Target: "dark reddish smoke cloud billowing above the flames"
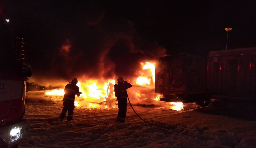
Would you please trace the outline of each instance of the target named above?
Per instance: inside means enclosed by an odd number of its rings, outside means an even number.
[[[57,18],[61,23],[69,23],[55,28],[55,42],[51,42],[54,45],[45,43],[48,49],[40,49],[29,57],[33,65],[31,81],[46,85],[57,81],[65,84],[75,77],[130,79],[137,76],[140,62],[166,54],[157,41],[148,41],[138,34],[132,21],[106,16],[97,3],[88,8],[75,13],[73,23],[69,22],[71,18]]]

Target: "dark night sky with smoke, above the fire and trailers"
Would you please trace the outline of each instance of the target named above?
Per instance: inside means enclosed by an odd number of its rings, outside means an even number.
[[[135,76],[140,61],[256,46],[255,0],[0,1],[32,79]]]

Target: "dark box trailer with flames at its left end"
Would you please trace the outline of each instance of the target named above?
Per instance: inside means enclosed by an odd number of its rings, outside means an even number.
[[[205,68],[205,57],[197,55],[177,54],[158,58],[155,93],[159,94],[159,100],[182,102],[183,107],[187,104],[189,108],[208,105]]]

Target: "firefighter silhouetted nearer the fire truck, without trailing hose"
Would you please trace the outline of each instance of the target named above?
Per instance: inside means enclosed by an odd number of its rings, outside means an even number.
[[[78,83],[77,78],[73,78],[69,84],[64,88],[64,97],[63,97],[63,109],[60,114],[60,121],[64,120],[66,113],[68,112],[68,121],[72,120],[72,116],[75,108],[75,95],[78,97],[82,92],[79,92],[79,87],[76,85]]]

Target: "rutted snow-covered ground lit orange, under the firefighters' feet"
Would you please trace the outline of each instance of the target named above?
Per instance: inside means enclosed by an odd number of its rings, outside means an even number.
[[[214,107],[187,111],[171,110],[163,104],[133,108],[146,122],[128,104],[126,122],[116,123],[115,100],[76,107],[73,121],[65,118],[60,122],[56,119],[62,110],[61,100],[28,98],[24,119],[30,121],[30,135],[19,148],[256,147],[255,120],[216,115],[219,111]]]

